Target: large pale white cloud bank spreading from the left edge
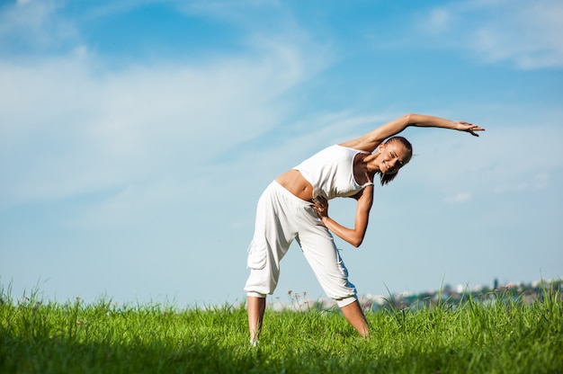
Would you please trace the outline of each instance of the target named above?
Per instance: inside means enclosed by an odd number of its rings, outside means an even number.
[[[299,46],[274,43],[206,65],[120,72],[78,55],[0,65],[4,203],[192,173],[279,125],[290,101],[274,99],[316,68]]]

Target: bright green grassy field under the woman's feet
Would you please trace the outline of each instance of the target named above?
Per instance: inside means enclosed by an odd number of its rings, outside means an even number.
[[[367,313],[364,340],[337,310],[266,311],[252,348],[244,307],[85,305],[0,295],[2,373],[562,373],[563,300],[470,295]]]

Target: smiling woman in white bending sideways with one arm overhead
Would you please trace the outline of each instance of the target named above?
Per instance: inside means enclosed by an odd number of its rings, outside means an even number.
[[[389,183],[413,154],[408,140],[396,136],[409,126],[457,129],[476,137],[475,131],[484,130],[464,121],[407,114],[360,138],[327,147],[281,174],[264,191],[256,209],[255,236],[248,249],[250,275],[245,290],[251,343],[258,342],[265,297],[273,294],[281,258],[293,239],[301,246],[326,295],[336,300],[359,334],[368,336],[368,324],[356,289],[348,281],[348,273],[330,232],[353,246],[362,244],[373,201],[375,175],[379,174],[381,185]],[[352,228],[328,216],[327,200],[335,197],[357,200]]]

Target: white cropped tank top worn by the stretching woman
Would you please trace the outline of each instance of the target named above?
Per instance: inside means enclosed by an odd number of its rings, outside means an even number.
[[[293,169],[299,170],[313,186],[313,197],[324,196],[327,200],[353,196],[373,183],[358,184],[353,177],[353,159],[358,149],[331,146],[309,157]]]

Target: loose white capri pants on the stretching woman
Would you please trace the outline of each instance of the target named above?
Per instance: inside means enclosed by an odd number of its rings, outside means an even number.
[[[280,261],[296,239],[326,296],[345,307],[357,299],[335,240],[309,201],[279,183],[271,183],[256,209],[255,235],[248,248],[247,296],[273,294],[280,278]]]

